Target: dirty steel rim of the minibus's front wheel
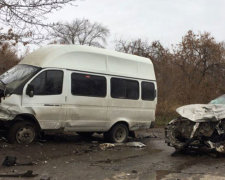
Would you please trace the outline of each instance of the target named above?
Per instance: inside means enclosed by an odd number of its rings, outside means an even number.
[[[16,140],[19,144],[29,144],[34,140],[35,132],[32,127],[20,128],[16,133]]]

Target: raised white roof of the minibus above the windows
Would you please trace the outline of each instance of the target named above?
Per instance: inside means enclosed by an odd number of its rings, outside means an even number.
[[[20,64],[155,80],[148,58],[83,45],[48,45],[27,55]]]

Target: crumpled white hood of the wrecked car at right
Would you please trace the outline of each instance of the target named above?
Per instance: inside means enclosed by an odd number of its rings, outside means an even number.
[[[194,122],[219,121],[225,118],[223,104],[191,104],[177,108],[177,113]]]

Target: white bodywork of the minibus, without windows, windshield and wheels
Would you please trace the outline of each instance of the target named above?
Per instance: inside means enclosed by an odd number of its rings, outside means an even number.
[[[153,101],[141,99],[141,82],[155,84],[152,62],[147,58],[108,51],[104,49],[54,45],[31,53],[20,64],[33,65],[45,70],[62,70],[63,91],[60,95],[11,95],[2,100],[0,119],[12,120],[19,114],[31,114],[41,129],[65,131],[108,131],[117,122],[126,122],[130,130],[149,128],[155,121],[157,97]],[[107,82],[106,97],[86,97],[71,94],[71,73],[86,73],[104,76]],[[119,77],[139,82],[139,99],[116,99],[110,95],[110,79]]]

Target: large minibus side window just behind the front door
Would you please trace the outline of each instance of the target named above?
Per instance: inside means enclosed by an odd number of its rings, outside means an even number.
[[[77,96],[106,96],[106,78],[91,74],[72,73],[71,93]]]

